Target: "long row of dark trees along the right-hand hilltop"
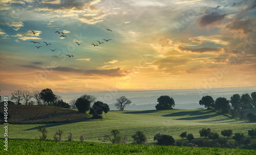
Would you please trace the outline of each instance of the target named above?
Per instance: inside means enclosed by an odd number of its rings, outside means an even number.
[[[199,104],[204,105],[209,110],[218,110],[225,114],[230,111],[232,117],[238,112],[240,118],[243,119],[246,109],[256,108],[256,92],[251,93],[251,95],[243,94],[242,96],[234,94],[230,97],[230,100],[225,97],[214,100],[211,96],[204,96]]]

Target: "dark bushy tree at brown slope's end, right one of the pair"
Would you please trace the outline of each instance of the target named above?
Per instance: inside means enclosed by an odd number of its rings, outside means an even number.
[[[110,111],[110,107],[108,104],[97,101],[93,104],[93,106],[90,108],[90,113],[93,115],[94,118],[97,118],[98,115],[102,115],[104,112],[105,114]]]

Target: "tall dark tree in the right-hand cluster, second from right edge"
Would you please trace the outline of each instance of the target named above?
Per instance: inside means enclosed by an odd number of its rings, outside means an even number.
[[[243,94],[241,96],[240,102],[238,104],[238,112],[240,114],[240,119],[243,119],[246,109],[252,108],[251,101],[252,99],[248,93]]]

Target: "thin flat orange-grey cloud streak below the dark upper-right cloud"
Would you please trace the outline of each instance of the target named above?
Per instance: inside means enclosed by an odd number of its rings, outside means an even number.
[[[191,48],[185,48],[183,46],[178,47],[178,51],[180,51],[180,52],[189,52],[189,53],[219,52],[221,50],[222,50],[222,48],[196,48],[196,49],[191,49]]]

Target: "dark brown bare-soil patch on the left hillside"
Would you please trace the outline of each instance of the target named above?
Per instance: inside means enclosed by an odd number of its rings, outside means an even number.
[[[4,113],[4,106],[0,105]],[[8,121],[11,123],[76,122],[86,121],[89,115],[69,108],[35,105],[8,105]],[[1,122],[3,117],[1,116]]]

